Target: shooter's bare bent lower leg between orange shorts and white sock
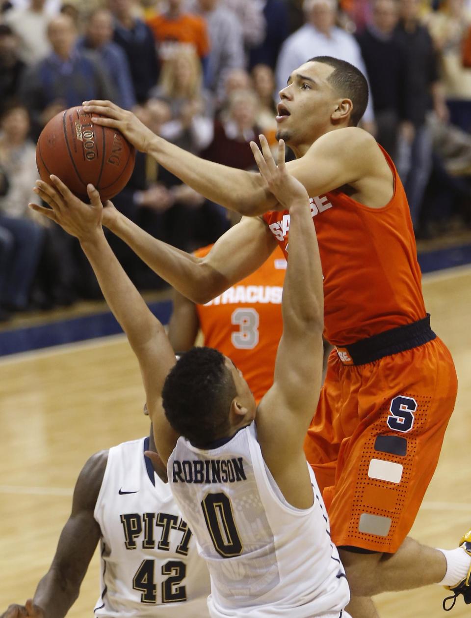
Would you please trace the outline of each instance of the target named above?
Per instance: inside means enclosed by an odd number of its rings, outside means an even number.
[[[443,553],[409,536],[395,554],[356,554],[340,549],[340,556],[354,596],[420,588],[441,582],[446,573]]]

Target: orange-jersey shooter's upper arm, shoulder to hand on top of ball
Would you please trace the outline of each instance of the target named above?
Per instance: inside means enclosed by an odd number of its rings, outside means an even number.
[[[110,101],[88,101],[84,111],[102,114],[104,117],[93,117],[95,124],[118,129],[138,150],[153,156],[182,182],[229,210],[256,216],[279,208],[261,174],[200,159],[158,137],[133,112]],[[314,197],[373,176],[378,164],[383,174],[385,161],[374,138],[358,127],[346,127],[322,135],[304,156],[290,161],[287,169]]]

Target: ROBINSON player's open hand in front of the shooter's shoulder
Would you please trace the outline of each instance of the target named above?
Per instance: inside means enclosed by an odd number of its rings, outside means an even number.
[[[285,143],[278,142],[278,164],[275,163],[270,147],[264,135],[259,135],[261,151],[255,142],[250,142],[253,156],[265,181],[269,192],[276,197],[279,203],[289,210],[295,201],[309,201],[305,187],[291,176],[285,166]]]

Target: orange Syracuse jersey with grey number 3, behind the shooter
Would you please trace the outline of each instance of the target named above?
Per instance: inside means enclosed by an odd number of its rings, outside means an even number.
[[[195,252],[205,256],[211,248]],[[281,249],[255,273],[205,305],[197,305],[204,345],[231,358],[244,374],[256,401],[273,384],[276,351],[283,323],[281,296],[286,260]]]

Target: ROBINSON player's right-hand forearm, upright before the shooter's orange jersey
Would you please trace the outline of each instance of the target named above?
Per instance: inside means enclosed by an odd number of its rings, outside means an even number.
[[[324,320],[324,290],[316,229],[309,203],[290,208],[289,259],[282,302],[284,332],[319,326]]]

